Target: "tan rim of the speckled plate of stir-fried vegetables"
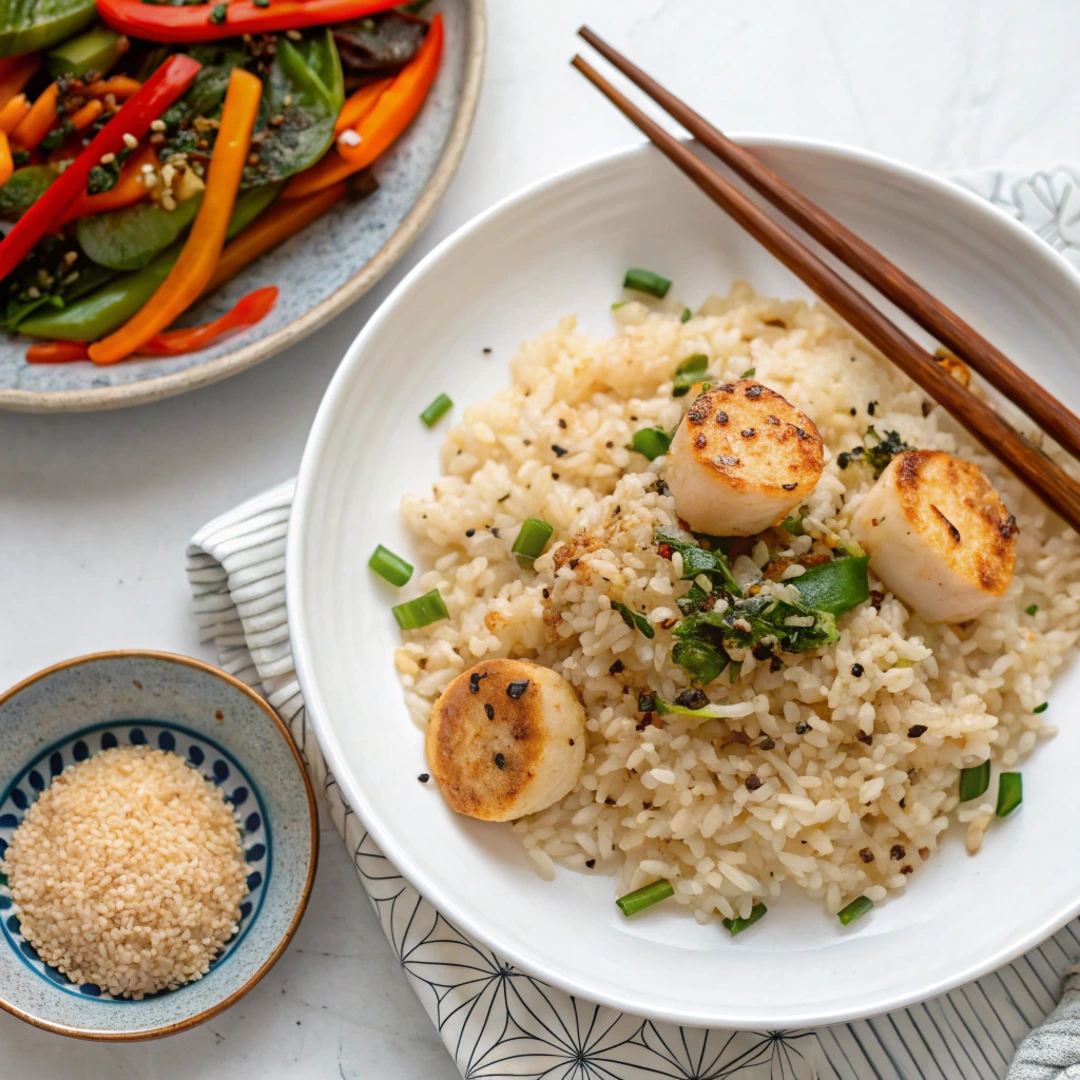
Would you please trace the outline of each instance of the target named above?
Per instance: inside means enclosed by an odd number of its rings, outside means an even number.
[[[227,379],[230,375],[245,372],[256,364],[276,355],[296,345],[309,334],[313,334],[335,315],[340,314],[351,303],[373,288],[393,265],[408,251],[414,241],[431,220],[435,207],[442,201],[454,174],[461,164],[469,133],[472,130],[476,105],[480,100],[481,83],[484,75],[484,55],[487,33],[487,15],[484,0],[465,0],[465,46],[464,81],[461,100],[450,125],[443,152],[419,199],[402,219],[387,242],[364,266],[343,285],[316,303],[310,311],[282,326],[273,334],[253,341],[235,352],[217,356],[203,364],[143,379],[119,387],[98,387],[87,390],[0,390],[0,411],[11,413],[97,413],[107,409],[129,408],[149,402],[162,401],[189,390],[199,390],[213,382]]]

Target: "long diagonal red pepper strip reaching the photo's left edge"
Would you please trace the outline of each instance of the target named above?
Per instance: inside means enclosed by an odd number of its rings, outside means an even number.
[[[172,9],[176,11],[178,9]],[[202,65],[184,53],[167,60],[126,100],[120,111],[94,136],[94,140],[45,189],[40,199],[0,241],[0,281],[8,276],[48,233],[60,215],[86,190],[90,171],[102,156],[124,149],[124,135],[141,138],[187,89]]]

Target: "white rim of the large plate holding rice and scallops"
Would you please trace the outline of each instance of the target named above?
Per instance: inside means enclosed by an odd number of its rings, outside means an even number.
[[[752,148],[808,150],[840,162],[872,165],[899,179],[912,180],[924,188],[929,187],[947,199],[953,199],[959,204],[967,204],[969,207],[974,208],[976,213],[982,213],[991,220],[996,219],[1001,228],[1012,233],[1011,239],[1015,243],[1028,248],[1036,258],[1042,259],[1048,266],[1054,267],[1057,273],[1063,274],[1077,291],[1078,297],[1080,297],[1080,270],[1074,268],[1068,259],[1056,252],[1050,244],[1040,240],[1030,229],[1026,228],[1003,210],[983,199],[971,189],[956,184],[948,178],[939,176],[920,166],[907,164],[887,154],[827,139],[761,132],[735,132],[729,133],[729,137],[741,145]],[[620,997],[618,991],[597,993],[595,989],[584,986],[571,977],[564,977],[558,970],[557,958],[545,958],[542,962],[534,962],[532,960],[523,962],[513,947],[508,948],[504,943],[488,934],[482,921],[470,915],[467,910],[461,909],[458,905],[444,902],[443,897],[440,897],[438,901],[434,899],[438,894],[437,886],[432,888],[432,882],[413,864],[407,851],[402,849],[387,835],[379,815],[373,812],[363,787],[356,783],[355,778],[352,775],[346,755],[342,753],[342,748],[337,741],[332,726],[328,720],[324,719],[325,702],[322,700],[318,684],[312,675],[311,653],[299,617],[299,612],[303,610],[306,603],[300,573],[303,561],[303,545],[301,530],[296,528],[295,525],[308,514],[310,490],[312,488],[313,476],[320,465],[320,451],[326,444],[328,416],[333,404],[337,395],[342,391],[347,380],[351,377],[353,369],[362,366],[362,355],[367,338],[375,336],[379,332],[383,322],[391,318],[393,311],[402,302],[402,298],[408,294],[418,281],[422,280],[430,272],[448,249],[485,228],[492,219],[497,219],[500,215],[514,210],[523,203],[528,203],[537,197],[549,193],[551,190],[580,177],[584,173],[611,167],[623,159],[632,158],[635,154],[644,157],[652,152],[658,151],[648,143],[637,143],[613,151],[607,151],[594,156],[578,165],[542,177],[499,200],[488,210],[483,211],[464,222],[429,252],[399,282],[393,292],[382,301],[378,310],[373,313],[372,318],[361,328],[356,338],[349,346],[333,379],[326,388],[323,400],[312,421],[308,441],[305,444],[300,469],[296,480],[296,491],[291,512],[291,528],[286,539],[285,596],[288,612],[289,639],[297,679],[307,706],[307,714],[311,719],[327,767],[338,782],[348,805],[360,816],[364,828],[370,834],[382,854],[397,873],[420,893],[421,897],[428,900],[448,921],[462,932],[474,937],[481,944],[490,948],[497,956],[504,958],[519,968],[524,973],[550,983],[552,986],[573,997],[580,997],[590,1002],[596,1002],[652,1021],[692,1027],[766,1029],[779,1025],[784,1028],[814,1028],[881,1015],[936,998],[942,994],[981,978],[998,968],[1010,963],[1017,957],[1023,956],[1056,933],[1077,915],[1080,915],[1080,894],[1078,894],[1071,904],[1066,905],[1056,914],[1052,914],[1035,928],[1029,928],[1021,937],[1011,941],[985,957],[967,963],[967,966],[956,971],[953,975],[939,977],[915,990],[907,990],[906,993],[881,991],[873,1000],[863,999],[861,1003],[852,1003],[842,1009],[822,1009],[811,1004],[807,1007],[807,1012],[797,1017],[783,1016],[778,1018],[777,1015],[766,1012],[724,1016],[715,1013],[715,1011],[712,1014],[706,1014],[705,1012],[692,1013],[687,1012],[685,1009],[679,1010],[677,1008],[670,1009],[665,1007],[643,1009],[639,1004],[629,1002],[625,998]]]

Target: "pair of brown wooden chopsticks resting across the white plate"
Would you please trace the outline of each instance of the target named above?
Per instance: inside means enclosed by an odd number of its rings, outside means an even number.
[[[732,143],[704,117],[664,90],[588,27],[578,32],[751,187],[1015,402],[1074,458],[1080,459],[1080,420],[956,312],[931,296],[879,251],[782,180],[753,153]],[[616,90],[595,68],[580,56],[575,56],[572,64],[715,203],[941,403],[1047,505],[1080,531],[1080,484],[989,405],[948,375],[930,353],[783,226],[773,221],[738,188]]]

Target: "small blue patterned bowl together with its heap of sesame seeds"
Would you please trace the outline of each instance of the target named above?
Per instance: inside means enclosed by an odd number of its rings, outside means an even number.
[[[273,710],[198,660],[109,652],[0,697],[0,1008],[86,1039],[238,1001],[303,916],[314,795]]]

